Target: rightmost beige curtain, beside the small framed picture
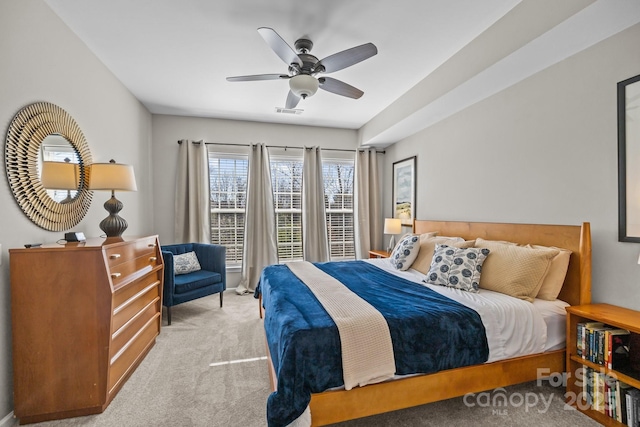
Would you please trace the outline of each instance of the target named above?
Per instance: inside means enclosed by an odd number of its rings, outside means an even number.
[[[356,151],[354,228],[356,258],[382,248],[382,197],[376,150]]]

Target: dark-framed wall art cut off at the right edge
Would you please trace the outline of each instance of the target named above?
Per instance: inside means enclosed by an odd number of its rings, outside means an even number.
[[[618,240],[640,243],[640,75],[618,83]]]

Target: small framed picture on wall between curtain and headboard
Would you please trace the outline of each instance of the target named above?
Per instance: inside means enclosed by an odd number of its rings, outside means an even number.
[[[409,226],[416,217],[416,156],[393,164],[393,217]]]

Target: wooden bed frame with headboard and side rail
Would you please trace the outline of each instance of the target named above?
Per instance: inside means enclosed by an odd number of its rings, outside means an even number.
[[[414,233],[437,231],[441,236],[458,236],[466,240],[506,240],[520,244],[556,246],[572,251],[569,269],[559,299],[570,305],[591,302],[591,231],[582,226],[506,224],[415,220]],[[272,390],[276,376],[267,348]],[[546,372],[564,372],[565,351],[556,350],[481,365],[440,371],[311,395],[313,426],[381,414],[398,409],[437,402],[466,393],[477,393],[497,387],[538,379],[539,368]]]

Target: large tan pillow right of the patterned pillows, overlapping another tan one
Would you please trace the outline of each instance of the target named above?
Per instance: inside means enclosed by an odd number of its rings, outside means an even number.
[[[558,249],[533,249],[510,242],[476,239],[476,248],[491,251],[482,266],[480,288],[533,302]]]

